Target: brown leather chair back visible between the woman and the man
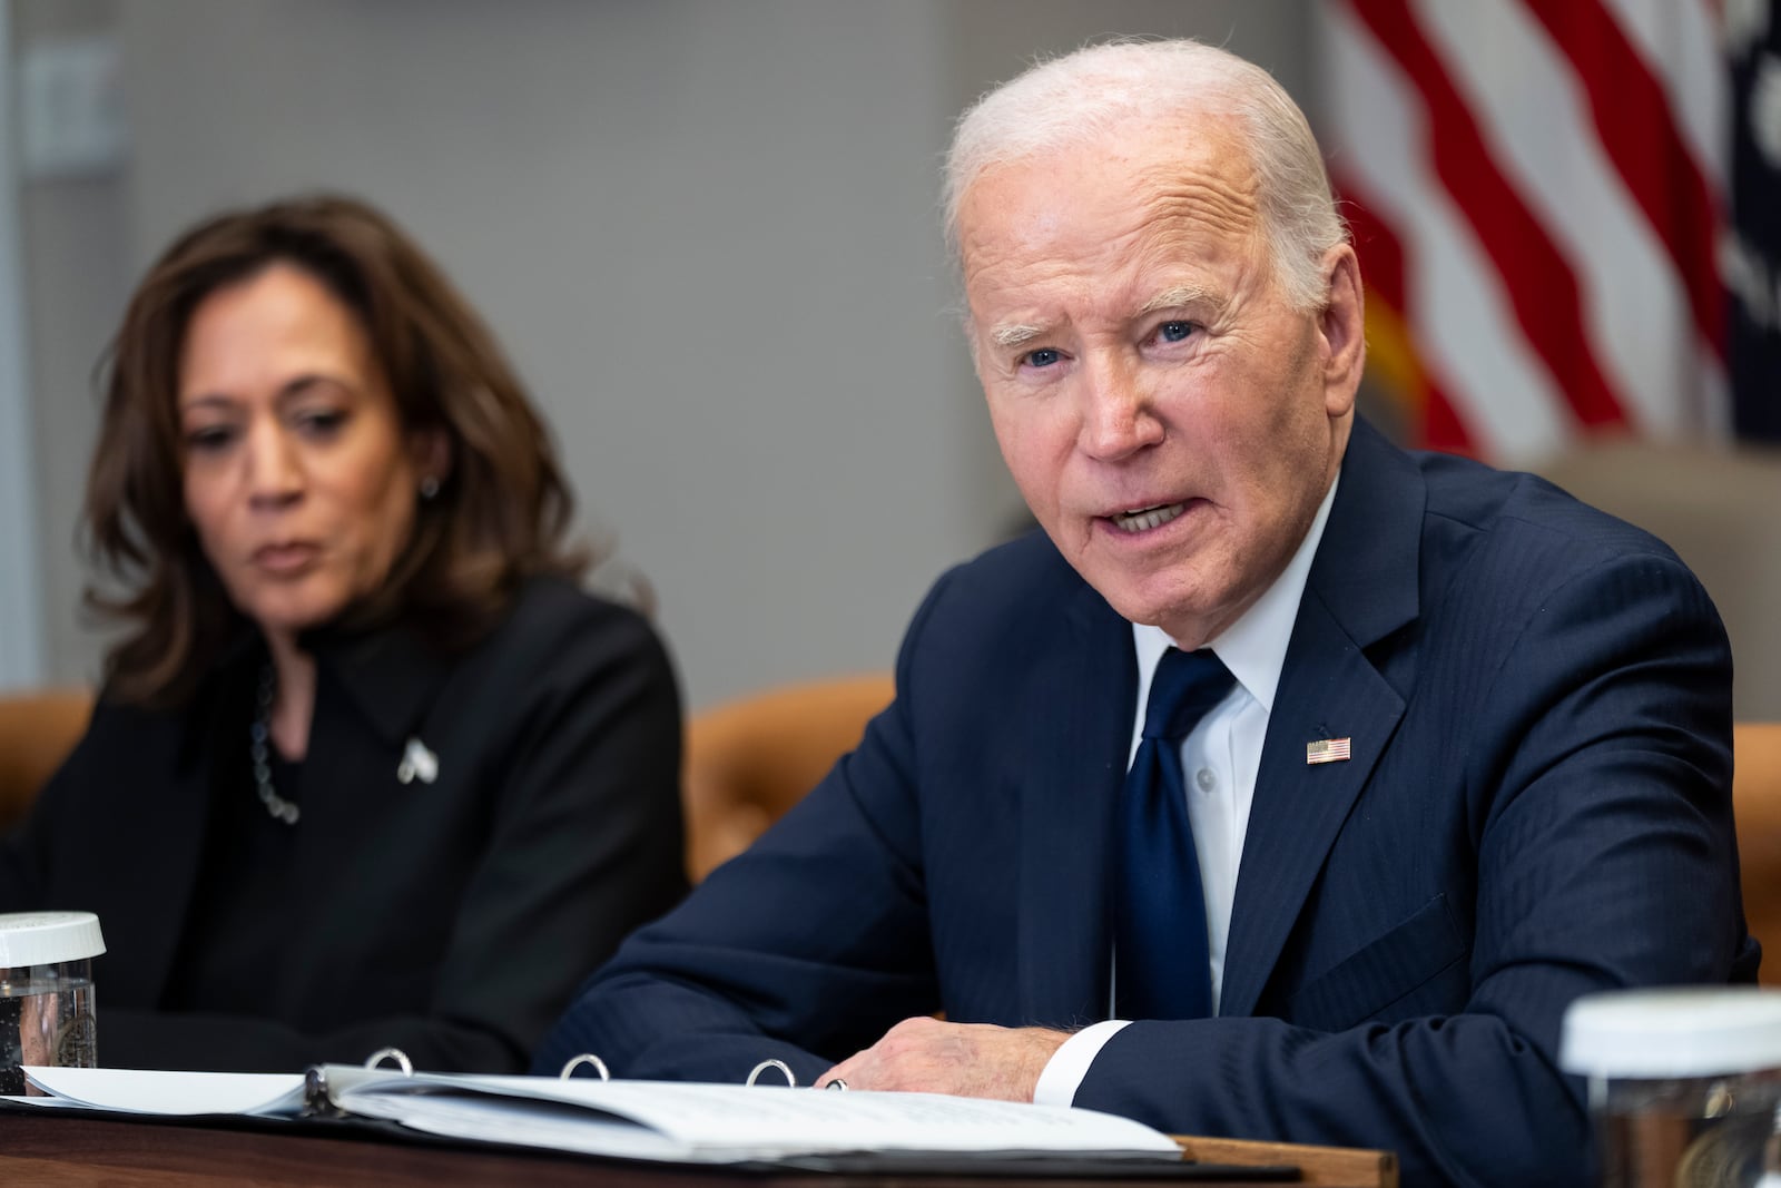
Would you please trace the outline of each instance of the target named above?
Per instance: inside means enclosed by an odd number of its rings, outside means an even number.
[[[890,704],[890,673],[789,684],[693,716],[686,737],[686,873],[746,850]]]

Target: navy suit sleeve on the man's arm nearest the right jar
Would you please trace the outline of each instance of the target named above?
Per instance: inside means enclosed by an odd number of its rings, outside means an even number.
[[[1133,1022],[1076,1104],[1175,1133],[1387,1147],[1405,1183],[1589,1181],[1583,1086],[1555,1067],[1569,1001],[1754,978],[1731,842],[1729,652],[1672,557],[1589,566],[1537,604],[1501,659],[1484,657],[1494,670],[1448,675],[1487,682],[1450,752],[1473,835],[1430,841],[1476,855],[1475,903],[1450,905],[1473,940],[1453,969],[1423,967],[1398,990],[1414,1001],[1416,978],[1464,972],[1469,997],[1439,1013],[1373,1003],[1334,1031]],[[1409,844],[1403,862],[1418,860]],[[1336,983],[1377,985],[1416,960],[1384,939],[1297,1001],[1327,1005]]]

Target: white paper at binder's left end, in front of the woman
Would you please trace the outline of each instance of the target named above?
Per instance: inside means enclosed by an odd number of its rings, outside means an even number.
[[[303,1108],[303,1074],[290,1072],[164,1072],[25,1065],[25,1078],[43,1092],[64,1101],[125,1113],[285,1115]]]

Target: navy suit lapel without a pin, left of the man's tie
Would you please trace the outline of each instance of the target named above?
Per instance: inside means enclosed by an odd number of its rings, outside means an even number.
[[[1131,625],[1074,579],[1061,647],[1037,648],[1021,707],[1021,1019],[1106,1019],[1106,853],[1136,698]]]

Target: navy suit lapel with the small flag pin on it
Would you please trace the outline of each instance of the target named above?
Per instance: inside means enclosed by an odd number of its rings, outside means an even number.
[[[1343,821],[1403,716],[1403,696],[1366,648],[1416,618],[1423,502],[1416,465],[1357,420],[1268,716],[1220,1015],[1256,1008]],[[1341,737],[1350,739],[1346,762],[1305,762],[1307,743]]]

